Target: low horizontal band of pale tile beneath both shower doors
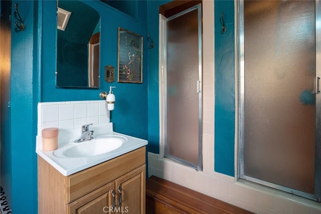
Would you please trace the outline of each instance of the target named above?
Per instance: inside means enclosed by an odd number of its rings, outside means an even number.
[[[148,152],[148,177],[155,175],[254,213],[321,214],[321,204],[279,190],[237,182],[234,177],[159,158]]]

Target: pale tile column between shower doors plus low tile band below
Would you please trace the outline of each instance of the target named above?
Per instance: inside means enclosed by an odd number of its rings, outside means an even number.
[[[214,2],[203,1],[203,171],[148,153],[156,175],[254,213],[321,213],[321,204],[275,189],[237,182],[214,171]],[[162,149],[162,146],[160,147]],[[237,149],[236,149],[237,150]],[[237,153],[235,154],[237,163]]]

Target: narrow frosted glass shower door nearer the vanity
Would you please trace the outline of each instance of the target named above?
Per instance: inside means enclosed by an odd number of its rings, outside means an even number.
[[[165,156],[202,168],[201,4],[164,19]]]

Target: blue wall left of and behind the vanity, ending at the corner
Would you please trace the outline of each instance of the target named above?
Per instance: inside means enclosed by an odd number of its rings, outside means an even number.
[[[114,130],[147,139],[147,23],[146,2],[137,1],[133,19],[99,1],[84,1],[101,15],[101,63],[117,67],[118,27],[137,33],[143,43],[143,83],[108,84],[100,80],[99,89],[66,89],[55,86],[56,1],[16,1],[26,25],[16,32],[12,22],[11,70],[11,146],[7,151],[8,168],[1,180],[14,213],[37,213],[37,103],[68,100],[100,100],[99,93],[116,86],[115,110],[111,113]],[[14,16],[12,16],[15,19]],[[115,22],[117,20],[117,22]],[[10,130],[8,130],[10,131]],[[10,142],[8,142],[10,143]],[[11,164],[10,164],[11,161]],[[6,163],[2,163],[6,164]],[[6,185],[7,184],[7,185]]]

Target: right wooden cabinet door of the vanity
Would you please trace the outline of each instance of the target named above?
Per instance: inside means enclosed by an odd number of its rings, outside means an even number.
[[[115,180],[117,213],[145,213],[145,165]]]

